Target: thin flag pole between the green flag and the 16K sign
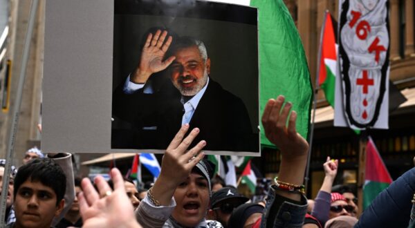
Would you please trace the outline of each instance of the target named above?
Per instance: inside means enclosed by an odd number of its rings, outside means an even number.
[[[326,18],[328,14],[329,14],[329,10],[326,10],[324,12],[323,26],[320,32],[320,44],[319,44],[319,51],[318,51],[318,57],[317,57],[317,72],[315,75],[315,86],[314,86],[315,90],[314,90],[314,96],[313,96],[313,119],[311,120],[311,129],[310,129],[310,143],[309,143],[310,146],[308,147],[306,174],[304,175],[304,187],[306,190],[308,187],[308,180],[310,180],[308,176],[310,175],[311,149],[313,148],[315,110],[317,109],[317,93],[318,93],[318,90],[320,89],[319,77],[320,77],[320,63],[322,59],[322,42],[323,42],[324,29],[326,28]]]

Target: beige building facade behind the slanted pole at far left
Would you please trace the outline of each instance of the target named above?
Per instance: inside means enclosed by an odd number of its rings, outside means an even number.
[[[21,70],[28,15],[32,1],[1,0],[1,20],[5,34],[1,44],[0,58],[0,158],[6,157],[12,127],[12,108],[15,106],[18,78]],[[44,2],[39,1],[33,36],[30,39],[30,54],[24,79],[24,90],[19,111],[19,124],[15,140],[14,164],[21,160],[29,148],[39,146],[39,131],[42,99],[42,68],[44,47]],[[5,32],[6,31],[6,32]]]

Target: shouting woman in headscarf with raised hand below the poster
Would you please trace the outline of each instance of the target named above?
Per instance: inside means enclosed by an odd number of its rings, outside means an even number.
[[[192,129],[185,137],[189,128],[184,124],[167,147],[160,175],[136,210],[142,227],[222,227],[220,222],[205,220],[214,169],[202,160],[201,149],[207,142],[202,140],[187,151],[199,133]]]

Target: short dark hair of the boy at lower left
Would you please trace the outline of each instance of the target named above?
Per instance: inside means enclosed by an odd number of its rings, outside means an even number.
[[[41,182],[56,194],[56,205],[64,198],[66,191],[66,175],[59,164],[50,158],[34,159],[19,168],[15,177],[14,198],[21,184],[30,180],[31,182]]]

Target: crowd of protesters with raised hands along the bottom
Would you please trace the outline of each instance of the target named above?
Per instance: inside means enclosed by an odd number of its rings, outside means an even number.
[[[6,227],[414,227],[415,169],[358,218],[356,193],[333,186],[339,164],[328,157],[320,191],[307,200],[302,184],[308,143],[295,121],[283,96],[268,101],[262,123],[282,161],[266,202],[252,202],[217,181],[214,164],[203,159],[208,142],[190,148],[200,130],[184,124],[163,155],[159,178],[142,194],[118,169],[111,170],[110,181],[98,176],[92,184],[74,178],[70,153],[28,150],[24,165],[9,172]],[[5,163],[0,160],[1,181]]]

